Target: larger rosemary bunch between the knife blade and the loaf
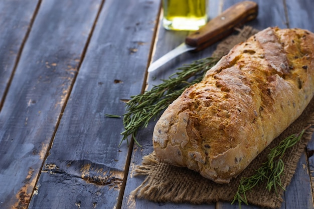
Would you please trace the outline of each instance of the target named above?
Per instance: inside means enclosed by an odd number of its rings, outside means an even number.
[[[156,119],[187,87],[200,82],[206,71],[213,67],[218,60],[208,57],[184,65],[168,80],[162,80],[163,83],[160,85],[153,86],[151,90],[145,91],[143,94],[132,96],[131,100],[126,103],[126,113],[123,115],[124,131],[121,133],[123,138],[120,145],[123,140],[128,143],[127,137],[131,135],[135,143],[140,146],[135,138],[138,129],[146,128],[148,122],[152,118]]]

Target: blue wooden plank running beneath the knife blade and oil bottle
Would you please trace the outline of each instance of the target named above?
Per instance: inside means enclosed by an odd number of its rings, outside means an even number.
[[[210,1],[209,7],[209,18],[212,19],[216,17],[219,12],[219,2]],[[160,23],[162,20],[162,15],[160,17]],[[170,50],[176,48],[181,43],[184,42],[185,37],[188,35],[188,32],[185,31],[167,31],[161,25],[158,28],[158,35],[156,36],[156,43],[153,51],[153,60],[156,60],[169,52]],[[161,79],[167,79],[175,70],[179,67],[182,67],[184,64],[189,64],[195,60],[208,57],[212,54],[213,50],[216,48],[216,45],[209,47],[208,49],[201,51],[199,53],[185,53],[177,58],[171,60],[169,63],[162,66],[160,69],[149,73],[148,75],[148,86],[147,88],[152,88],[153,85],[158,85],[162,81]],[[137,140],[142,145],[138,147],[134,145],[133,153],[131,157],[131,163],[129,167],[129,174],[127,177],[127,184],[125,187],[122,208],[159,208],[163,206],[165,208],[215,208],[215,204],[212,205],[192,205],[192,204],[175,204],[172,202],[167,203],[157,203],[152,201],[147,201],[145,199],[134,198],[130,193],[137,186],[139,186],[144,180],[143,176],[134,177],[134,169],[136,165],[140,165],[142,157],[151,153],[153,150],[152,147],[152,130],[155,122],[151,122],[147,128],[139,131],[137,135]]]

